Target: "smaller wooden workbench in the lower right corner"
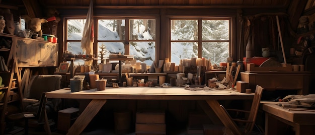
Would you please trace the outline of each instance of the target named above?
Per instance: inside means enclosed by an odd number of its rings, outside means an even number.
[[[296,135],[315,134],[315,112],[292,111],[279,106],[285,102],[261,102],[265,115],[265,134],[284,134],[287,125],[293,126]]]

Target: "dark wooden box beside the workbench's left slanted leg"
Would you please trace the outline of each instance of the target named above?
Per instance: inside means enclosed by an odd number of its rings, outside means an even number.
[[[78,116],[78,108],[67,108],[58,111],[58,125],[57,129],[59,132],[67,132],[72,123]]]

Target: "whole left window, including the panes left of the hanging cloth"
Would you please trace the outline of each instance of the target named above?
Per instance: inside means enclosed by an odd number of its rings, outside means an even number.
[[[94,42],[97,44],[95,47],[98,50],[98,58],[100,59],[98,63],[101,62],[101,57],[106,58],[110,53],[121,53],[134,55],[138,62],[151,65],[155,60],[155,21],[155,19],[147,18],[98,18],[98,27],[94,27],[94,33],[97,33]],[[83,53],[81,38],[85,19],[67,19],[66,22],[67,50],[72,54]],[[102,49],[105,52],[104,55],[99,53]],[[83,61],[74,63],[81,62]]]

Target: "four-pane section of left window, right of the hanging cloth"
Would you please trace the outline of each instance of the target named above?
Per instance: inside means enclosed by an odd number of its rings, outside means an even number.
[[[109,53],[130,54],[134,55],[138,62],[149,65],[153,63],[155,19],[99,19],[98,24],[98,48],[103,45]],[[129,29],[125,30],[127,25]],[[124,48],[124,43],[129,43],[129,47]],[[109,53],[105,57],[108,57]]]

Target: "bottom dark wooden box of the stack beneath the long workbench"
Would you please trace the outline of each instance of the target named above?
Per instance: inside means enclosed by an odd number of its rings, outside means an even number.
[[[136,134],[166,134],[166,124],[138,124],[136,123]]]

